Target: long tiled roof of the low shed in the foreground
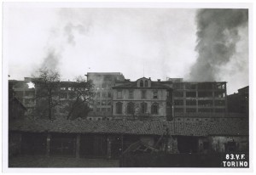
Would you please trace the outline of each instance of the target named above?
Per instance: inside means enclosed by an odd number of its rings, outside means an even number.
[[[175,127],[175,129],[174,129]],[[110,133],[161,135],[169,129],[171,135],[248,135],[247,121],[87,121],[87,120],[24,120],[10,124],[10,131],[34,133]]]

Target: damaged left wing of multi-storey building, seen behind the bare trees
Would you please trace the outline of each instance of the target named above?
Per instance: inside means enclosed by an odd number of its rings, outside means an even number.
[[[47,116],[47,92],[39,78],[25,77],[24,81],[9,80],[9,88],[13,90],[14,97],[26,107],[26,116]],[[79,82],[60,81],[49,82],[52,87],[51,98],[55,101],[52,114],[55,117],[67,116],[70,106],[77,100],[79,88],[83,88]],[[82,93],[80,91],[80,93]],[[81,95],[80,95],[81,96]],[[86,109],[77,114],[86,117],[89,112],[89,103],[84,105]],[[88,110],[88,111],[85,111]]]

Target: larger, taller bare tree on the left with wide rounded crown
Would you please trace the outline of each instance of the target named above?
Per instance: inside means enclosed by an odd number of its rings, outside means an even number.
[[[37,113],[53,119],[53,110],[59,105],[58,90],[61,76],[58,71],[47,68],[39,69],[38,75],[32,80],[36,86]],[[48,114],[47,114],[48,113]]]

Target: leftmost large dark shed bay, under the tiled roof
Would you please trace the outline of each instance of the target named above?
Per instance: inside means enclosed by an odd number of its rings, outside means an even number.
[[[46,134],[44,133],[22,133],[21,154],[25,155],[45,155],[46,154]]]

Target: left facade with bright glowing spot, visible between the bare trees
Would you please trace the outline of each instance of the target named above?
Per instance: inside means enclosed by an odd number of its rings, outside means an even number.
[[[53,88],[52,98],[57,103],[53,112],[56,114],[55,116],[67,116],[67,105],[71,105],[76,100],[75,88],[79,88],[79,83],[69,81],[52,83],[56,84]],[[12,87],[15,97],[26,107],[26,115],[35,115],[35,110],[41,105],[40,101],[42,102],[44,98],[40,94],[45,90],[42,89],[40,80],[30,77],[25,77],[24,81],[9,80],[9,86]],[[81,116],[83,117],[83,115]],[[84,114],[84,116],[86,115]]]

